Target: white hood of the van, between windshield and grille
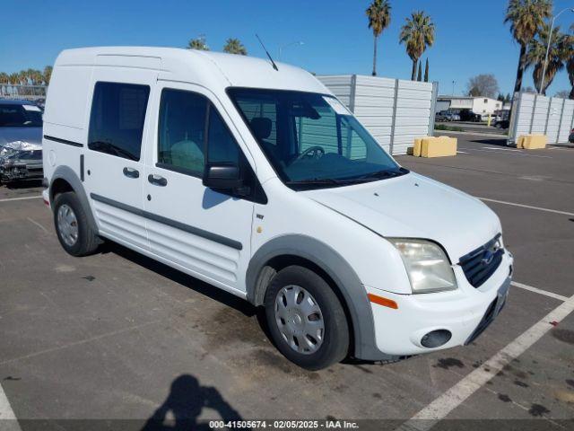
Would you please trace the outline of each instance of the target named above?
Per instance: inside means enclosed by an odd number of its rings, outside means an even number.
[[[381,236],[439,242],[452,263],[500,233],[483,202],[415,173],[303,193]]]

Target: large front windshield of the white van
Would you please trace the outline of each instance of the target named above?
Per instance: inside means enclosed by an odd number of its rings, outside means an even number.
[[[408,171],[334,97],[228,89],[275,172],[292,189],[383,180]]]

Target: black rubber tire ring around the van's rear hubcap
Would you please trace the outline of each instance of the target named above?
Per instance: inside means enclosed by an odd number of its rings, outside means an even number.
[[[77,240],[74,244],[66,243],[58,227],[57,214],[60,207],[67,205],[74,212],[77,221]],[[73,191],[68,191],[57,195],[54,199],[54,227],[56,228],[57,239],[62,248],[72,256],[80,257],[92,254],[100,245],[100,237],[96,235],[91,227],[88,217],[83,209],[80,199]]]

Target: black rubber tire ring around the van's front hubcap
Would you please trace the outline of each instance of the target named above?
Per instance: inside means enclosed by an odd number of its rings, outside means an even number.
[[[317,351],[300,353],[283,338],[275,318],[275,299],[286,286],[300,286],[317,302],[325,330]],[[265,292],[265,318],[275,346],[292,363],[308,370],[320,370],[340,362],[349,351],[349,324],[342,304],[326,281],[308,268],[283,268],[269,283]]]

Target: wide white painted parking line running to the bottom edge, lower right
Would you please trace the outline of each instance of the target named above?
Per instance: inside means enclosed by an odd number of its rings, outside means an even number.
[[[550,322],[560,322],[570,312],[574,311],[574,296],[561,303],[558,307],[546,314],[540,321],[503,347],[498,353],[476,368],[472,373],[467,374],[461,381],[455,384],[448,391],[433,400],[424,409],[410,418],[398,429],[404,431],[426,431],[436,425],[440,420],[446,418],[448,414],[465,402],[475,391],[481,389],[487,382],[498,374],[502,368],[522,355],[536,341],[541,339],[553,326]]]

